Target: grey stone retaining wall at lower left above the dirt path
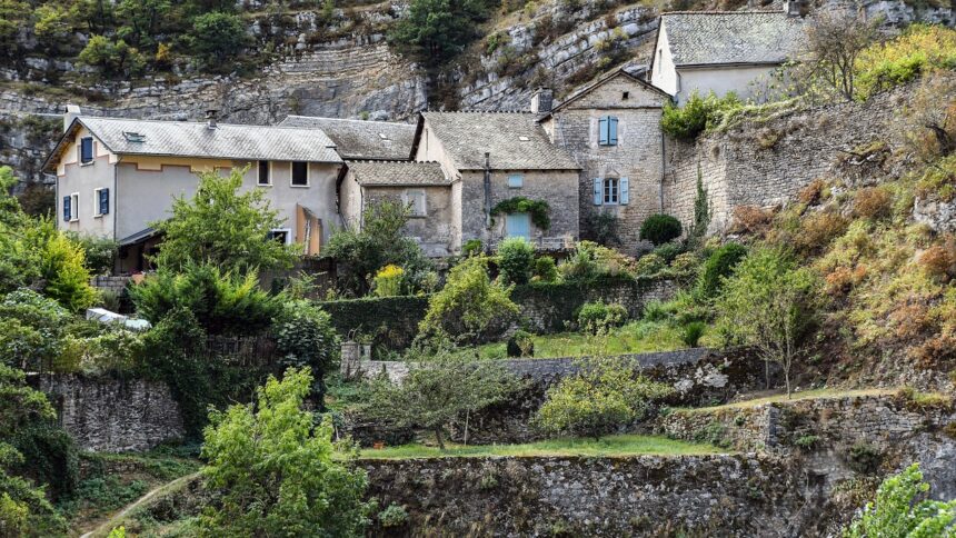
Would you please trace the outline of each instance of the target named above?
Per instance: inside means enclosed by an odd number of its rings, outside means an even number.
[[[87,450],[149,450],[183,436],[179,404],[162,382],[43,375],[31,383],[47,392],[57,417]]]

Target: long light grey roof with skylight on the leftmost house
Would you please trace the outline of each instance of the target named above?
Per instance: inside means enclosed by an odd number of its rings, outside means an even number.
[[[310,162],[342,162],[318,129],[155,121],[81,116],[77,119],[113,153]],[[141,140],[141,141],[137,141]]]

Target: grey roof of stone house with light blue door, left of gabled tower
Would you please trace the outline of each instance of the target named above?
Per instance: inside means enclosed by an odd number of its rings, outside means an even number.
[[[530,112],[422,112],[459,170],[578,170]]]

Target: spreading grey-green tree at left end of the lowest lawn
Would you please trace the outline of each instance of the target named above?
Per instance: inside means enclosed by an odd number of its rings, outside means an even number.
[[[449,425],[521,388],[520,380],[494,360],[461,357],[439,348],[434,355],[409,363],[400,383],[388,379],[372,382],[364,415],[398,428],[422,428],[435,434],[444,450]]]

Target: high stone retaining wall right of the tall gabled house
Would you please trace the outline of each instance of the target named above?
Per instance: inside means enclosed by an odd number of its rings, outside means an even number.
[[[727,230],[735,207],[786,205],[814,179],[835,173],[862,147],[887,140],[912,91],[900,87],[863,103],[747,120],[694,143],[671,141],[665,208],[685,227],[691,223],[698,171],[713,205],[711,232]]]

